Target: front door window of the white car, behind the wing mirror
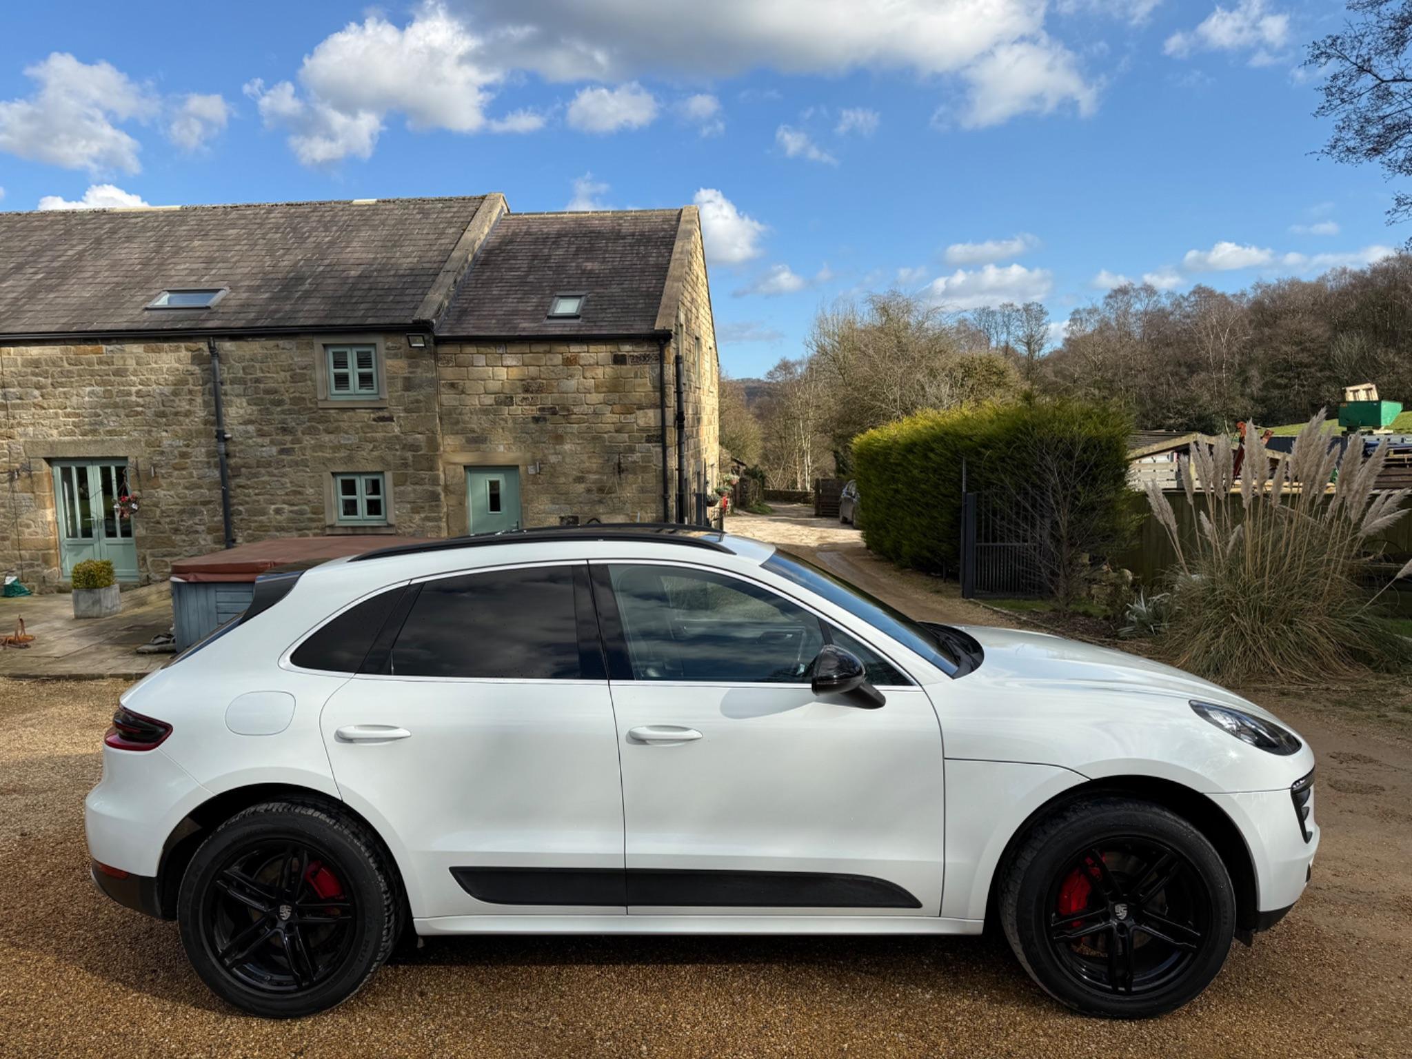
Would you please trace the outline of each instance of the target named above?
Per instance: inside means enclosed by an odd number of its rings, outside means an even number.
[[[611,566],[635,681],[803,683],[819,618],[782,596],[707,570]]]

